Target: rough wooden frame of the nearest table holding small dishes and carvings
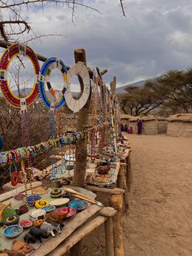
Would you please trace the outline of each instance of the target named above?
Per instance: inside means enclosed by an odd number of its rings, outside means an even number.
[[[33,183],[33,188],[37,188],[39,186],[41,186],[41,182]],[[17,192],[24,192],[24,187],[17,188]],[[13,201],[13,194],[15,194],[15,191],[2,194],[1,201],[4,204],[7,204],[7,202],[9,201]],[[72,249],[74,245],[78,244],[78,242],[80,242],[85,236],[87,236],[90,232],[93,232],[103,223],[105,223],[106,255],[117,255],[115,253],[116,248],[113,240],[113,218],[115,215],[116,210],[111,207],[101,208],[98,205],[89,205],[89,207],[81,211],[79,214],[76,214],[70,221],[65,224],[61,234],[57,235],[55,238],[50,238],[44,241],[42,244],[39,244],[38,248],[30,255],[63,255],[70,249]],[[23,236],[24,233],[16,237],[16,239],[22,240]],[[2,238],[5,239],[6,237]],[[1,249],[3,249],[2,246]],[[11,249],[11,243],[9,245],[9,248],[7,249]],[[76,248],[74,248],[74,250],[76,251]],[[78,256],[78,254],[79,252],[76,251],[75,255]]]

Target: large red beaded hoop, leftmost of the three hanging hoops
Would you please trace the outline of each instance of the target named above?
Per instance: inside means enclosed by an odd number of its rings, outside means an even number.
[[[9,65],[11,64],[11,60],[18,55],[24,55],[28,57],[29,60],[31,60],[35,75],[39,74],[40,68],[39,68],[39,63],[38,63],[36,54],[28,46],[15,43],[10,47],[8,47],[7,50],[4,51],[4,53],[2,54],[2,57],[0,59],[0,82],[1,82],[2,93],[4,97],[7,99],[9,104],[11,104],[14,108],[22,109],[22,105],[28,106],[30,104],[33,104],[33,102],[35,101],[35,99],[37,99],[39,95],[39,90],[38,90],[38,84],[36,81],[33,84],[32,91],[25,98],[19,98],[11,92],[10,85],[7,81],[7,72],[8,72]]]

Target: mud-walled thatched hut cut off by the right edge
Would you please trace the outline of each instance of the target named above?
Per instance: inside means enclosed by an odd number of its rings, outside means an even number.
[[[192,113],[168,117],[168,135],[192,137]]]

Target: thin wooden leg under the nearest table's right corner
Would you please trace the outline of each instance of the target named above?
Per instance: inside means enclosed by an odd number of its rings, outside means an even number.
[[[105,222],[106,256],[114,256],[113,237],[113,222],[112,217],[109,217]]]

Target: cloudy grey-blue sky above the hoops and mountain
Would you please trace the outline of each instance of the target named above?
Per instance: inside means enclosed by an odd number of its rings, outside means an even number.
[[[79,1],[80,2],[80,1]],[[41,55],[74,63],[73,50],[84,48],[89,67],[107,68],[106,82],[118,86],[192,66],[192,1],[127,0],[122,17],[118,0],[81,1],[101,14],[76,8],[75,25],[68,7],[31,7],[24,12],[36,33],[64,37],[30,42]]]

